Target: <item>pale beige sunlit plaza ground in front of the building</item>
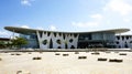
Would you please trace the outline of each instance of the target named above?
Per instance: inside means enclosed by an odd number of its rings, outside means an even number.
[[[132,52],[2,52],[0,74],[132,74]]]

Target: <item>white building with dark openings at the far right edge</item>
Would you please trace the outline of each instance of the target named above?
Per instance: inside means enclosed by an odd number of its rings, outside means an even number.
[[[132,49],[132,35],[117,35],[116,46],[118,49]]]

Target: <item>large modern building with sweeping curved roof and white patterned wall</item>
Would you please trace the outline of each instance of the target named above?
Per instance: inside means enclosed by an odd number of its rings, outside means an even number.
[[[130,31],[129,29],[113,29],[92,32],[58,32],[6,27],[6,30],[20,33],[29,44],[25,47],[34,49],[87,49],[87,47],[116,47],[117,33]]]

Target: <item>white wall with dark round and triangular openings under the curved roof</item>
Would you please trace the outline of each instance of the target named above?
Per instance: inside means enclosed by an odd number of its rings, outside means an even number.
[[[40,49],[77,49],[78,35],[72,33],[36,31]]]

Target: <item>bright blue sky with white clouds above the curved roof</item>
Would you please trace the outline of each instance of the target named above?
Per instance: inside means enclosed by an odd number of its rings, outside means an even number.
[[[0,36],[11,36],[4,27],[77,32],[132,30],[132,0],[1,0]]]

